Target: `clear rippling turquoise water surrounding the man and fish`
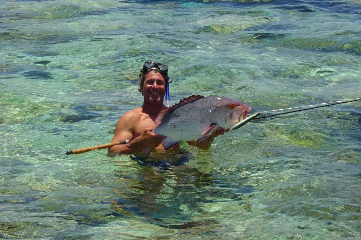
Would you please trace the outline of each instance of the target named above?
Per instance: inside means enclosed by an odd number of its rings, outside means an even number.
[[[180,165],[106,150],[145,60],[255,111],[361,96],[361,5],[1,1],[0,238],[361,239],[361,103],[253,121]]]

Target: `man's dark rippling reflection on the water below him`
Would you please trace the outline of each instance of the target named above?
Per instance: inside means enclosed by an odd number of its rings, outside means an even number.
[[[213,224],[213,220],[192,221],[204,213],[200,197],[206,185],[214,184],[211,174],[184,165],[191,153],[169,156],[166,160],[132,156],[141,166],[139,178],[129,184],[131,189],[115,189],[119,199],[112,205],[118,214],[142,217],[167,228],[190,228]]]

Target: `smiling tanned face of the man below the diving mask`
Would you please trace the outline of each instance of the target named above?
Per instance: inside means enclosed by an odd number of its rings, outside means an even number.
[[[150,71],[144,79],[142,90],[144,101],[163,101],[165,95],[165,80],[159,72]]]

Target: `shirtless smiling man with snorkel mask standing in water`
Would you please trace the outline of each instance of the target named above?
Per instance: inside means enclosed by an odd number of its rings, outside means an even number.
[[[157,151],[165,151],[162,136],[152,133],[156,127],[154,121],[159,110],[164,108],[164,95],[166,84],[169,84],[168,66],[160,63],[146,61],[139,74],[139,91],[143,95],[143,105],[126,112],[118,121],[112,142],[130,140],[125,145],[114,145],[109,148],[112,154],[133,154],[139,153],[143,148],[150,148]],[[225,129],[217,128],[212,135],[205,140],[196,143],[188,141],[192,146],[199,149],[209,149],[213,138],[224,134]],[[170,150],[179,151],[179,145]],[[169,151],[169,150],[168,150]]]

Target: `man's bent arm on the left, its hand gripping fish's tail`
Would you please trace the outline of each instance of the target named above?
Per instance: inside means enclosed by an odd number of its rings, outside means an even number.
[[[152,128],[144,129],[144,132],[135,137],[134,127],[140,121],[140,116],[134,112],[125,113],[118,121],[114,137],[111,142],[130,140],[124,145],[114,145],[109,148],[111,154],[139,153],[143,148],[153,149],[160,145],[162,137],[150,132]]]

